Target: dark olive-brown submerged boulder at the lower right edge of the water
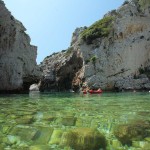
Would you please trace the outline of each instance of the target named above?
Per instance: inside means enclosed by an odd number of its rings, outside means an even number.
[[[140,141],[150,135],[149,121],[136,121],[129,124],[118,125],[114,135],[123,145],[132,145],[133,141]]]

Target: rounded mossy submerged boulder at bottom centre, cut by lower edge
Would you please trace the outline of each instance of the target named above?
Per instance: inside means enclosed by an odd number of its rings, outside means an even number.
[[[77,128],[63,134],[61,146],[69,146],[75,150],[106,149],[105,137],[96,129]]]

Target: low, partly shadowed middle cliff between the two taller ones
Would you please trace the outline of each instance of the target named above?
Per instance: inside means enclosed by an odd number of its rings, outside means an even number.
[[[81,69],[83,60],[72,47],[68,50],[53,54],[40,64],[43,71],[40,91],[66,91],[72,89],[76,72]],[[74,85],[74,89],[78,89]]]

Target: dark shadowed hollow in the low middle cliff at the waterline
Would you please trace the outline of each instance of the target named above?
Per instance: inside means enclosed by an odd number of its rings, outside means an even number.
[[[50,61],[51,60],[49,59],[49,62]],[[83,59],[77,55],[77,52],[73,52],[67,56],[64,63],[61,61],[58,62],[58,60],[55,59],[55,63],[53,64],[49,67],[47,64],[47,67],[50,68],[47,72],[50,72],[49,76],[53,76],[53,78],[43,77],[40,91],[59,92],[72,89],[73,79],[75,78],[76,73],[82,68]]]

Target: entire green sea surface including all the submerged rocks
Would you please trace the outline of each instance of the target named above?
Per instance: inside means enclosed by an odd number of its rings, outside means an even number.
[[[0,150],[150,150],[150,93],[0,95]]]

